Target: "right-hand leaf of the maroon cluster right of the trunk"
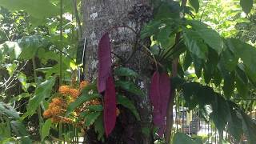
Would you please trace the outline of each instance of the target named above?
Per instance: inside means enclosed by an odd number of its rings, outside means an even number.
[[[162,126],[160,126],[160,130],[158,130],[158,134],[162,135],[164,134],[165,128],[166,128],[166,111],[167,111],[167,105],[170,101],[170,78],[168,74],[162,73],[160,74],[160,81],[159,81],[159,91],[160,91],[160,114],[162,115]]]

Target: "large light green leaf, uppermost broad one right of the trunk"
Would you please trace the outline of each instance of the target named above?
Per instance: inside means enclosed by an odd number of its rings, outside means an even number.
[[[199,21],[189,21],[195,32],[218,54],[221,54],[222,50],[225,49],[225,43],[222,38],[215,30],[208,28],[206,24]]]

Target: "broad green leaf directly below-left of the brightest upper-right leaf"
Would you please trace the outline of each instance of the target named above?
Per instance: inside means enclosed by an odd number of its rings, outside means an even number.
[[[184,29],[184,42],[186,48],[190,53],[196,55],[198,58],[206,59],[208,48],[199,35],[194,30]]]

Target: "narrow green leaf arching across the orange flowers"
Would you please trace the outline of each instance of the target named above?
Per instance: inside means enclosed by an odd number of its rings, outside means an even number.
[[[66,109],[66,115],[70,114],[73,112],[78,106],[81,106],[82,103],[86,101],[90,101],[91,99],[94,98],[100,98],[99,94],[85,94],[82,93],[74,102],[70,103],[70,105]]]

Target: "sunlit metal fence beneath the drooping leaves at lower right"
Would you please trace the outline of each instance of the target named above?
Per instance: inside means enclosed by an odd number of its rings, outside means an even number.
[[[255,100],[256,99],[248,99],[248,101],[251,102],[256,102]],[[251,107],[250,112],[247,112],[247,114],[256,120],[256,110],[253,110],[253,107]],[[189,110],[180,102],[178,106],[174,105],[174,130],[189,134],[192,138],[201,138],[202,142],[206,144],[218,144],[219,141],[218,130],[214,124],[207,122],[207,120],[202,117],[199,110]],[[223,133],[223,138],[226,142],[232,144],[248,143],[244,135],[242,135],[240,142],[234,142],[234,139],[226,131]]]

